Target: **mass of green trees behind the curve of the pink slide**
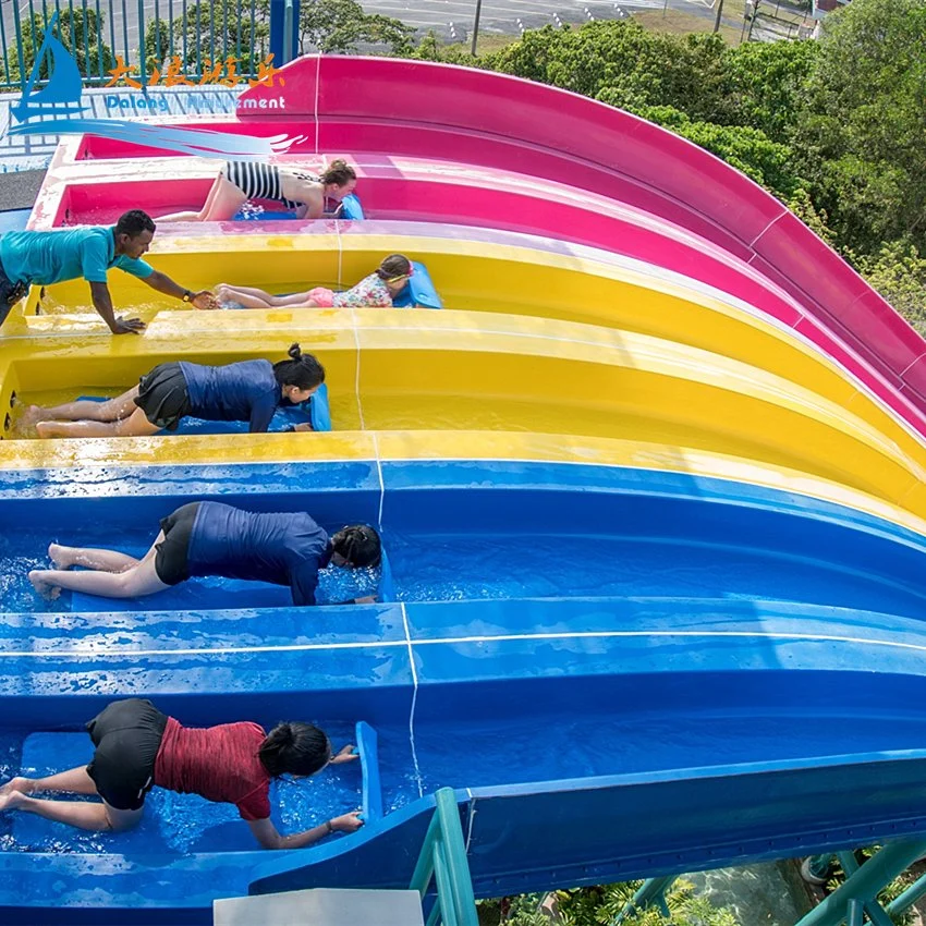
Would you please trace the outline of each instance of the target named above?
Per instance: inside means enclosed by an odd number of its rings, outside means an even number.
[[[684,136],[778,196],[922,324],[924,49],[924,0],[853,0],[818,41],[731,48],[623,20],[528,31],[478,59],[434,40],[416,53],[551,84]]]

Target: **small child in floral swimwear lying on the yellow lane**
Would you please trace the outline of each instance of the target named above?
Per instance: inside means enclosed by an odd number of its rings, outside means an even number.
[[[304,293],[275,296],[253,287],[221,283],[216,288],[216,295],[220,303],[234,302],[245,308],[390,308],[392,300],[405,289],[414,272],[407,257],[390,254],[373,273],[343,293],[316,287]]]

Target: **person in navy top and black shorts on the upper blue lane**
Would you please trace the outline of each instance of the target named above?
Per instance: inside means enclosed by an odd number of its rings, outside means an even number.
[[[342,527],[329,538],[304,512],[259,513],[200,501],[165,517],[160,534],[141,560],[114,550],[58,544],[48,548],[48,556],[56,568],[33,570],[29,581],[52,598],[62,588],[135,598],[163,592],[194,575],[222,575],[288,585],[294,605],[314,605],[320,569],[329,563],[378,565],[381,548],[379,534],[367,524]],[[70,572],[74,565],[84,570]]]

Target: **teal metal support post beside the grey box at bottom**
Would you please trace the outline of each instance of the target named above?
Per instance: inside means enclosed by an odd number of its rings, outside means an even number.
[[[447,926],[478,926],[466,845],[453,789],[441,788],[435,794],[435,800],[437,807],[410,887],[424,900],[431,879],[437,885],[437,898],[427,926],[436,926],[438,923],[446,923]]]

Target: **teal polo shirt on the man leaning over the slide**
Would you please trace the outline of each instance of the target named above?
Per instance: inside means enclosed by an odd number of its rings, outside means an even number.
[[[7,232],[0,235],[0,264],[14,283],[47,287],[83,277],[105,283],[106,271],[118,267],[145,279],[155,268],[144,260],[115,256],[112,226],[50,232]]]

